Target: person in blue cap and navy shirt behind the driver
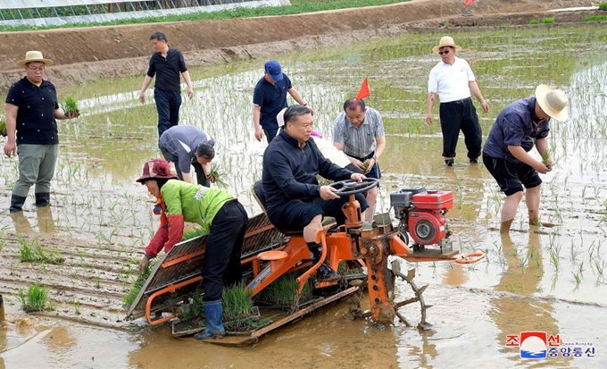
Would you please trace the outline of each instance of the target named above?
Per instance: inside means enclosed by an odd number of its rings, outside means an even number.
[[[314,113],[312,107],[303,101],[302,95],[293,87],[287,74],[282,72],[279,62],[270,60],[265,63],[263,78],[257,82],[253,93],[253,123],[255,138],[258,141],[262,141],[264,133],[268,143],[276,137],[279,131],[276,116],[287,107],[287,92],[297,104]]]

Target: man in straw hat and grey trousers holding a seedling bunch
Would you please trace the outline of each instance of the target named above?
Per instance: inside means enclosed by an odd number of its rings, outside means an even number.
[[[54,85],[44,79],[52,60],[45,59],[39,51],[28,51],[17,65],[25,69],[26,75],[9,88],[6,96],[4,145],[6,156],[11,157],[15,151],[19,155],[19,179],[12,189],[11,213],[21,212],[32,185],[36,186],[36,206],[50,205],[51,180],[59,152],[56,120],[79,116],[63,112]]]

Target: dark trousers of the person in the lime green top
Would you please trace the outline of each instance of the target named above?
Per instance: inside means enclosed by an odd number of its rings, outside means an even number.
[[[242,280],[240,255],[249,218],[237,200],[229,200],[212,219],[203,261],[203,301],[221,299],[221,281],[233,285]]]

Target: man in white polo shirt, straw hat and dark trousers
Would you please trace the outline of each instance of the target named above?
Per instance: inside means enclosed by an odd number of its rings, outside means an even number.
[[[447,166],[453,166],[455,162],[455,147],[460,130],[463,132],[470,163],[478,163],[483,132],[470,96],[477,98],[483,107],[483,113],[489,111],[489,105],[486,105],[480,93],[470,65],[455,56],[455,52],[459,50],[461,46],[455,45],[453,38],[441,38],[438,45],[432,47],[432,52],[438,53],[441,61],[432,68],[428,78],[426,123],[432,125],[432,107],[438,95],[440,125],[443,131],[443,157]]]

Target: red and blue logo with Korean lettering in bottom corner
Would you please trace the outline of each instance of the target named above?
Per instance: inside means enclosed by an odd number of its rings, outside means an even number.
[[[506,347],[520,348],[520,357],[542,359],[546,357],[595,357],[591,342],[561,342],[561,335],[547,335],[545,331],[521,331],[506,335]]]

